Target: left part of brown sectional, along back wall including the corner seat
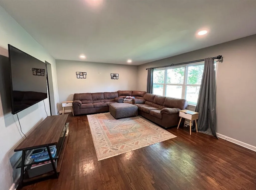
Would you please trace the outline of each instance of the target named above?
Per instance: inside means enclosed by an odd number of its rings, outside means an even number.
[[[88,114],[109,111],[109,104],[122,103],[126,96],[143,99],[144,91],[117,91],[74,94],[74,114]]]

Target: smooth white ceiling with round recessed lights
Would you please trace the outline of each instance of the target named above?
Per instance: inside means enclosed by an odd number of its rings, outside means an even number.
[[[1,0],[55,58],[141,65],[256,34],[256,1]],[[201,28],[209,33],[196,35]],[[212,55],[217,56],[217,55]]]

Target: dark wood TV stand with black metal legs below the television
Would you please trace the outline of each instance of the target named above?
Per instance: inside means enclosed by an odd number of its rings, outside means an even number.
[[[19,189],[25,185],[49,179],[51,177],[58,178],[67,146],[68,135],[65,136],[68,128],[67,116],[67,114],[48,116],[27,136],[26,139],[23,140],[23,142],[20,143],[20,145],[15,148],[15,152],[22,151],[21,162],[17,166],[17,168],[21,168]],[[52,157],[52,154],[50,153],[49,146],[51,145],[56,145],[57,148],[54,157]],[[27,170],[30,169],[32,164],[40,162],[34,162],[34,159],[28,160],[26,158],[32,150],[41,147],[46,147],[49,154],[49,159],[42,162],[51,161],[53,171],[29,178]],[[55,167],[54,160],[57,159],[57,167]]]

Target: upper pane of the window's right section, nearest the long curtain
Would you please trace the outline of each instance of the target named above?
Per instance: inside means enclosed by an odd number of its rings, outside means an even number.
[[[204,72],[204,65],[188,66],[188,81],[190,85],[201,85],[201,80]]]

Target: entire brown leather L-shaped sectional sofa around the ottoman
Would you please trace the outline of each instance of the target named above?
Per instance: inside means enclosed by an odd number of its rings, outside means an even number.
[[[74,114],[109,111],[109,105],[122,103],[126,96],[134,96],[138,114],[165,128],[178,125],[179,111],[187,108],[186,99],[148,94],[144,91],[117,91],[74,94]]]

